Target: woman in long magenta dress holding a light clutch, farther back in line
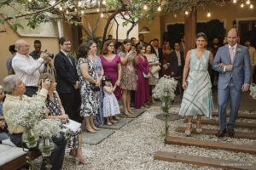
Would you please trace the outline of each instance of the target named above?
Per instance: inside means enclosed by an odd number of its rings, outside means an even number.
[[[138,64],[137,66],[137,90],[135,92],[134,108],[149,107],[146,102],[150,99],[148,78],[150,77],[148,59],[144,56],[145,46],[137,46]]]

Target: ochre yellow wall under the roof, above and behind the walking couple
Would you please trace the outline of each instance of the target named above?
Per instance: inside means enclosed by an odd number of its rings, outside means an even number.
[[[226,29],[230,30],[232,28],[233,20],[241,20],[247,18],[254,18],[256,19],[256,4],[254,4],[254,8],[250,9],[247,5],[244,8],[240,7],[239,3],[230,3],[225,2],[224,7],[217,7],[216,5],[212,4],[209,8],[212,16],[210,18],[207,17],[207,9],[199,8],[197,11],[197,20],[198,21],[208,21],[208,20],[225,20],[226,22]],[[183,23],[184,22],[184,15],[177,14],[175,18],[173,14],[162,14],[160,17],[156,17],[151,24],[147,24],[146,20],[142,20],[139,23],[139,28],[142,26],[148,26],[150,33],[144,34],[144,39],[146,42],[149,42],[153,37],[157,37],[161,40],[163,33],[166,31],[166,24],[167,23]],[[236,22],[238,25],[238,22]],[[161,42],[161,41],[160,41]]]

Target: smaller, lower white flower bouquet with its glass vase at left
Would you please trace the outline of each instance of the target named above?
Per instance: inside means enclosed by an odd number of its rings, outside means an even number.
[[[42,156],[50,156],[51,150],[55,148],[51,137],[58,136],[61,132],[61,121],[56,119],[43,119],[35,124],[34,129],[39,136],[42,137],[39,143],[39,150]]]

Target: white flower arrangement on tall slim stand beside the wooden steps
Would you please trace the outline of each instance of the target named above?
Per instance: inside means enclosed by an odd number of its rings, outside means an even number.
[[[165,117],[165,127],[166,133],[164,134],[165,144],[166,138],[169,132],[169,125],[168,125],[168,112],[170,108],[170,100],[173,100],[175,97],[175,90],[177,87],[177,81],[172,77],[161,77],[159,82],[156,84],[154,88],[154,98],[160,99],[162,101],[162,111],[164,111]]]

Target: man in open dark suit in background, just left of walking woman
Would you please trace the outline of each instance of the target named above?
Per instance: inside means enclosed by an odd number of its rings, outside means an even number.
[[[172,77],[183,77],[184,58],[179,42],[174,44],[175,50],[170,54],[170,67]]]

